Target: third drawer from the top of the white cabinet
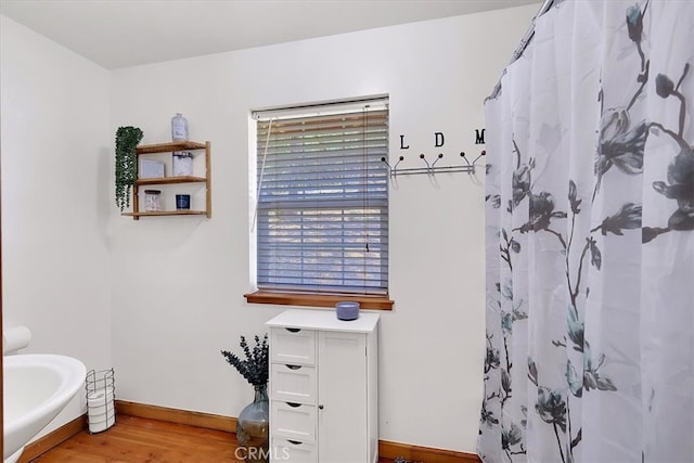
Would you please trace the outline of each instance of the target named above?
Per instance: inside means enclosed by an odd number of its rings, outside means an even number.
[[[270,401],[270,435],[299,442],[316,442],[316,407]]]

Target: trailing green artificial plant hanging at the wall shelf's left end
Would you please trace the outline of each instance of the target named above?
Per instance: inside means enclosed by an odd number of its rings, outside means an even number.
[[[118,127],[116,131],[116,206],[123,211],[130,206],[130,187],[138,180],[136,147],[142,140],[137,127]]]

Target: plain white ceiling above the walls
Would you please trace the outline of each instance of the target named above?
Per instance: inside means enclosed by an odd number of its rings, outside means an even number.
[[[0,0],[0,14],[114,69],[529,3],[541,1]]]

